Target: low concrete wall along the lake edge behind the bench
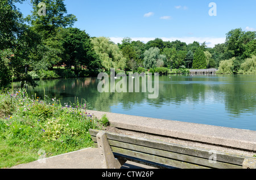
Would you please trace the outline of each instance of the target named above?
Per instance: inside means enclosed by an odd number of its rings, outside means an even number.
[[[106,114],[110,122],[109,131],[227,153],[256,155],[256,131],[92,110],[86,112],[97,118]]]

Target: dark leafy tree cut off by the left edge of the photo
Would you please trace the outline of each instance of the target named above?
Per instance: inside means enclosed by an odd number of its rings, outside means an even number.
[[[1,87],[8,86],[12,77],[35,85],[31,76],[26,72],[30,65],[27,58],[38,42],[37,36],[24,23],[22,14],[16,8],[15,3],[22,0],[0,1],[0,81]]]

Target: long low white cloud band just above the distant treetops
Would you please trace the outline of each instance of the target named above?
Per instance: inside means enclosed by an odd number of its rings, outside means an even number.
[[[222,44],[225,42],[226,37],[159,37],[162,38],[163,41],[176,41],[180,40],[181,42],[185,42],[186,44],[191,44],[194,41],[199,42],[200,44],[205,42],[208,48],[213,48],[216,44]],[[154,40],[155,37],[131,37],[132,41],[142,41],[145,44],[148,41]],[[110,40],[115,44],[122,43],[123,37],[110,37]]]

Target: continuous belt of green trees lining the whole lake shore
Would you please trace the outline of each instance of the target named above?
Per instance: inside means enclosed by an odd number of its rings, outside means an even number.
[[[27,17],[15,6],[23,1],[0,2],[1,89],[13,80],[35,86],[37,78],[93,76],[110,68],[135,72],[141,71],[139,67],[146,71],[220,67],[221,73],[254,73],[242,64],[256,55],[256,32],[232,29],[226,33],[225,43],[213,48],[206,42],[186,44],[161,38],[144,43],[125,37],[115,44],[110,38],[90,37],[84,30],[72,28],[77,19],[67,13],[64,0],[31,0],[33,11]],[[45,15],[39,13],[42,2],[47,7]]]

